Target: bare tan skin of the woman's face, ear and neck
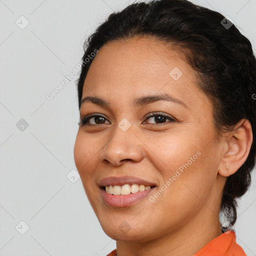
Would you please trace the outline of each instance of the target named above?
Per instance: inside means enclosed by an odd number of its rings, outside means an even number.
[[[182,71],[174,80],[169,72]],[[104,44],[88,70],[82,98],[98,96],[109,108],[85,101],[80,119],[97,117],[80,125],[74,160],[88,200],[104,232],[115,239],[118,256],[192,255],[222,233],[218,219],[226,176],[246,160],[252,142],[251,125],[239,123],[236,133],[218,136],[212,104],[196,88],[195,71],[175,50],[163,43],[131,38]],[[133,106],[138,96],[168,93],[187,107],[171,101]],[[159,111],[174,118],[157,123],[145,115]],[[157,116],[157,115],[156,115]],[[118,123],[126,118],[125,132]],[[132,175],[157,184],[157,191],[175,171],[199,151],[183,173],[153,202],[149,194],[135,205],[111,207],[101,198],[98,183],[108,176]],[[226,171],[225,166],[228,166]],[[155,193],[155,192],[153,192]],[[119,227],[126,221],[129,230]]]

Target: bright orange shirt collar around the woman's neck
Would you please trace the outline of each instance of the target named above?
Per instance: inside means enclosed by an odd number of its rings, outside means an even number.
[[[117,256],[116,249],[106,256]],[[234,231],[226,231],[204,245],[192,256],[247,256],[236,243]]]

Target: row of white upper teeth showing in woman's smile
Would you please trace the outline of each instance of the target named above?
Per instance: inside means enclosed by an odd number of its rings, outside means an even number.
[[[131,186],[129,184],[124,184],[122,186],[119,185],[107,185],[105,186],[105,191],[108,194],[129,194],[129,193],[136,193],[138,191],[144,191],[150,189],[150,186],[145,185],[138,185],[138,184],[132,184]]]

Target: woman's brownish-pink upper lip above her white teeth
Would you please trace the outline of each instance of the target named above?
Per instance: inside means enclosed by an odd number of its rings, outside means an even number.
[[[134,176],[120,176],[120,177],[110,176],[110,177],[101,179],[100,182],[98,183],[99,186],[124,185],[124,184],[142,184],[147,186],[156,186],[154,182],[150,182]]]

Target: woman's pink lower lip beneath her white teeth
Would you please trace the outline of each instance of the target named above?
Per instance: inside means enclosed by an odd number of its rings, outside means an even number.
[[[104,189],[101,189],[101,195],[104,201],[112,207],[126,207],[133,205],[136,202],[145,198],[155,187],[152,187],[148,190],[138,191],[136,193],[129,193],[125,195],[108,194]]]

